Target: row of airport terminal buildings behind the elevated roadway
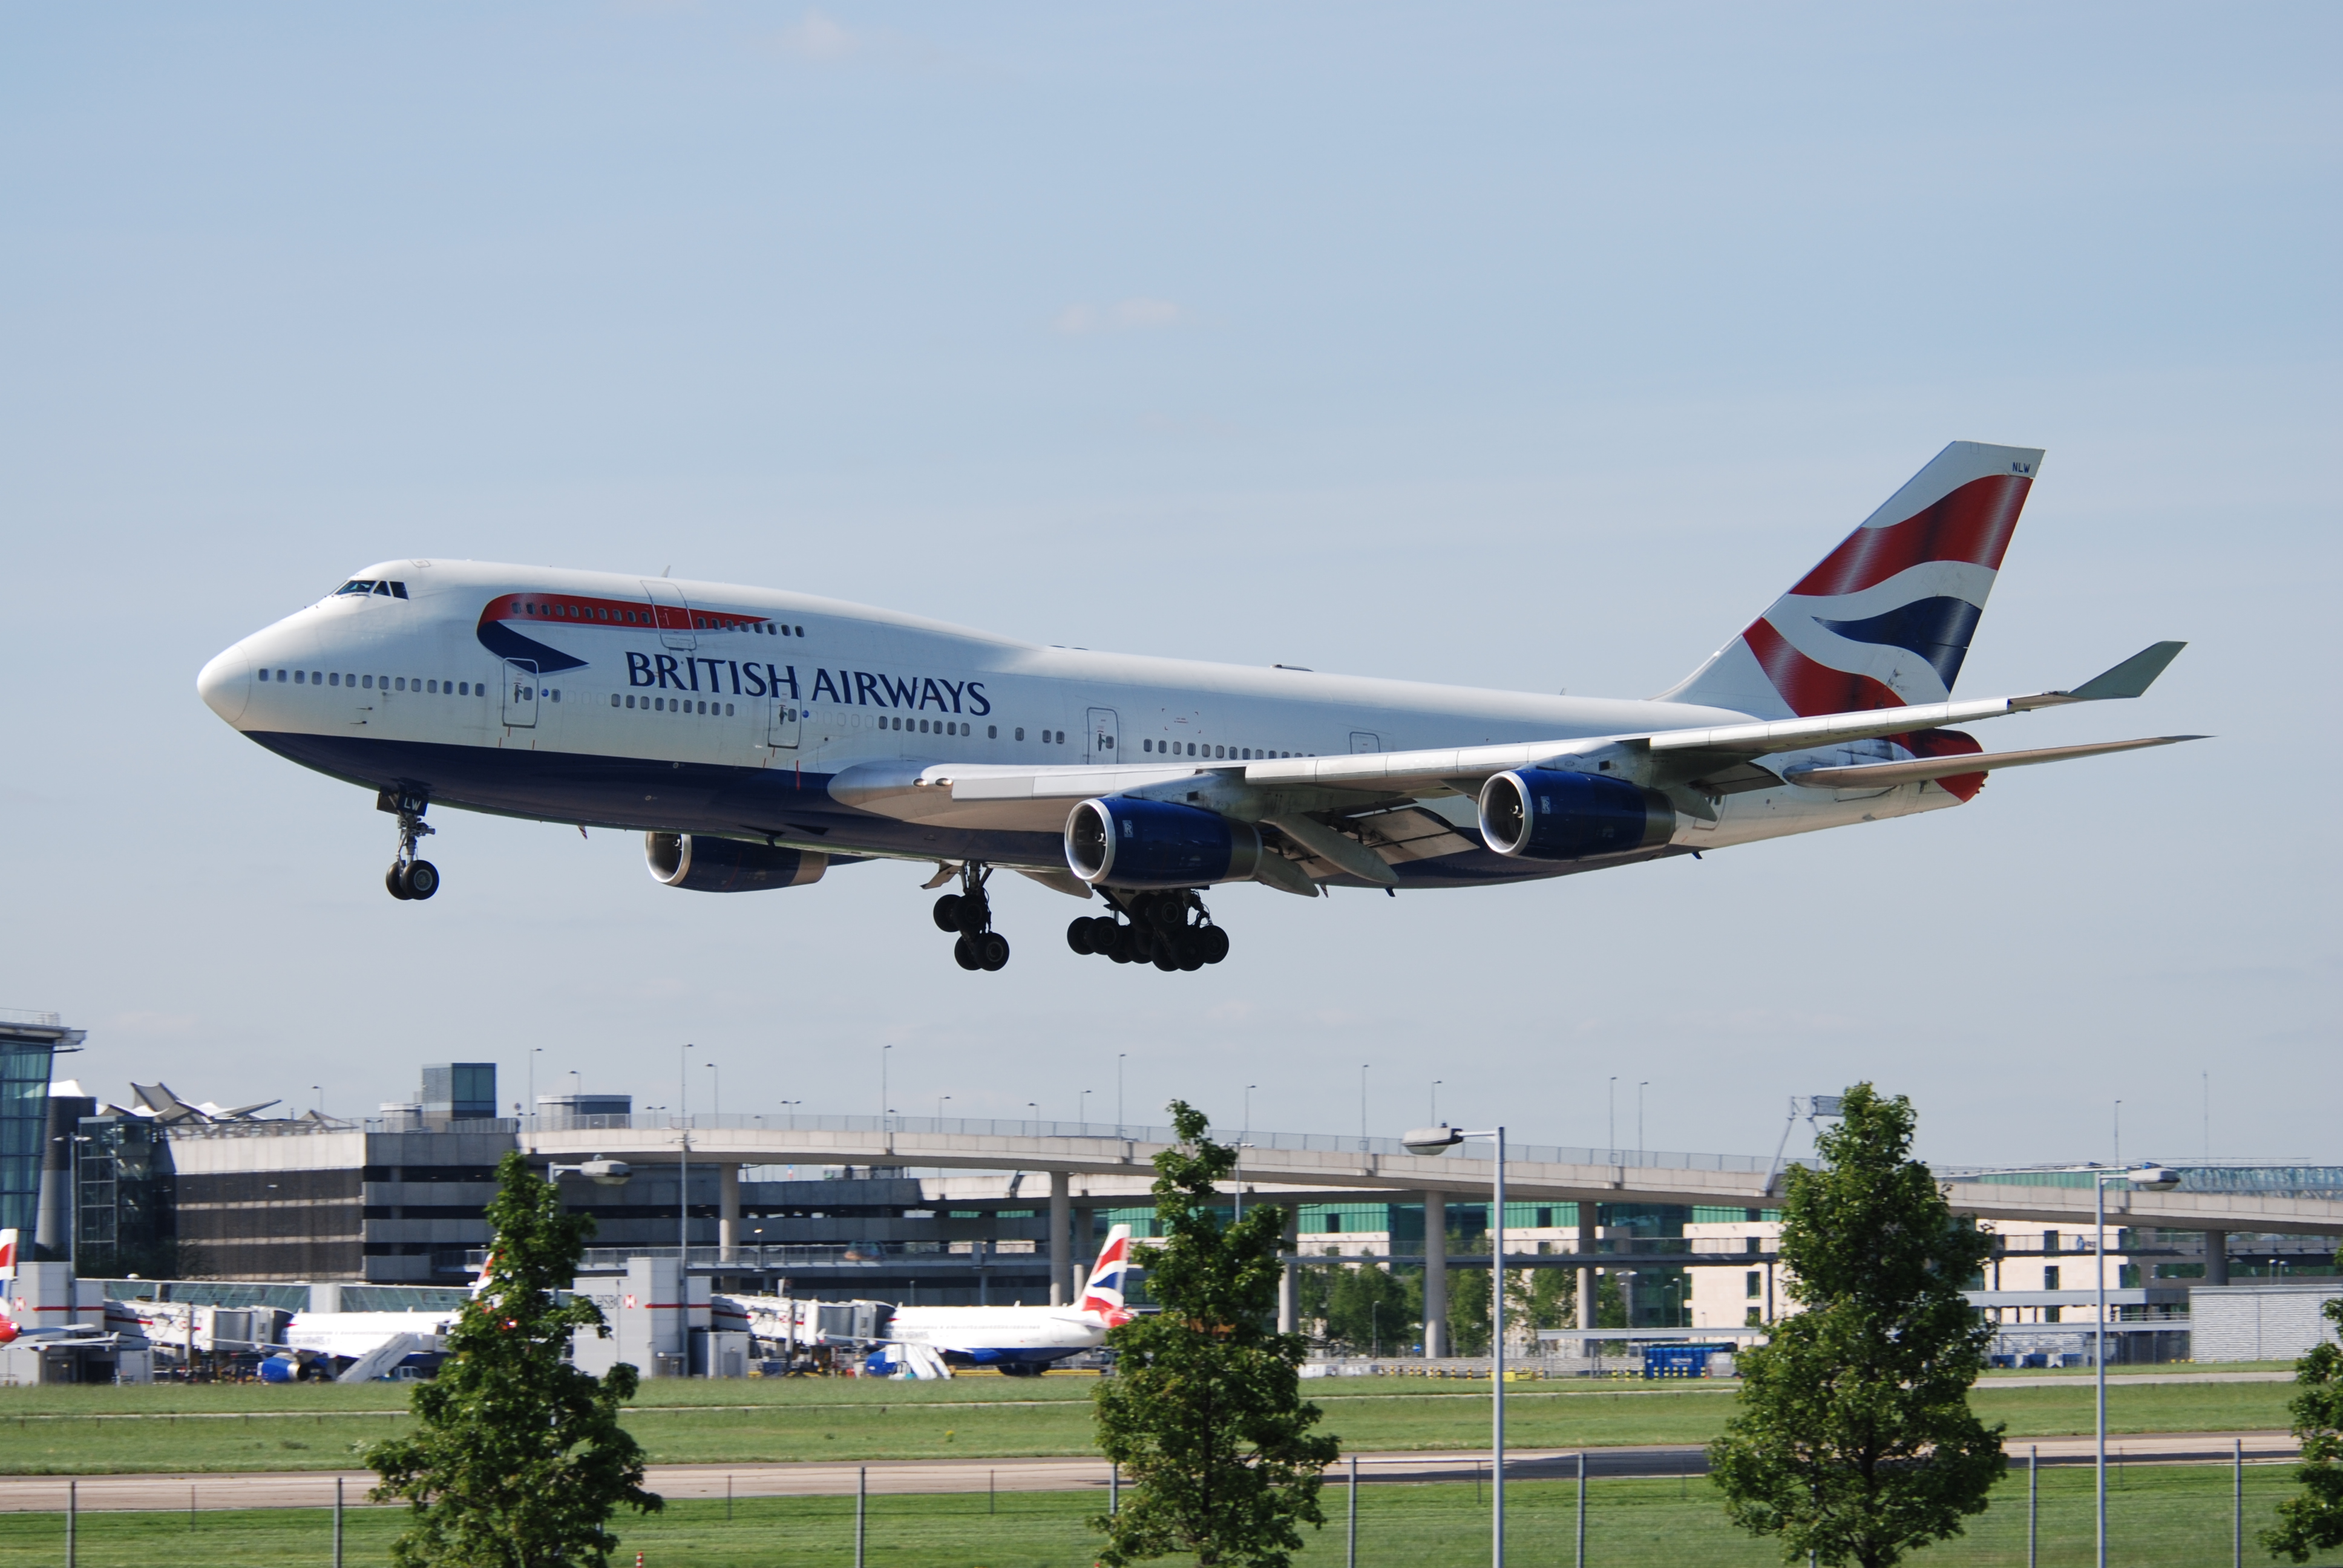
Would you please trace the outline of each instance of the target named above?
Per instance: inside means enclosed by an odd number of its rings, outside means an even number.
[[[0,1102],[0,1134],[7,1134],[0,1202],[19,1228],[37,1226],[40,1256],[70,1256],[84,1280],[115,1280],[131,1291],[176,1289],[227,1305],[248,1296],[295,1308],[316,1289],[351,1305],[368,1296],[382,1305],[452,1301],[490,1242],[485,1207],[497,1165],[525,1146],[558,1179],[565,1205],[595,1219],[590,1268],[623,1270],[628,1259],[672,1259],[684,1249],[694,1277],[726,1291],[916,1305],[1050,1303],[1066,1298],[1068,1280],[1078,1280],[1108,1226],[1129,1223],[1141,1238],[1153,1230],[1143,1163],[1115,1174],[1019,1170],[1022,1160],[1045,1160],[1050,1139],[1097,1144],[1108,1132],[1120,1137],[1120,1127],[1029,1123],[1017,1137],[1015,1123],[956,1123],[993,1130],[1000,1158],[986,1160],[989,1170],[965,1160],[921,1167],[893,1155],[867,1165],[757,1165],[696,1144],[722,1141],[710,1120],[766,1118],[701,1118],[682,1132],[663,1116],[637,1118],[626,1095],[583,1090],[539,1097],[530,1118],[497,1118],[490,1062],[424,1066],[415,1099],[361,1120],[197,1106],[164,1085],[131,1085],[129,1106],[105,1104],[77,1083],[49,1083],[54,1055],[77,1048],[77,1031],[47,1015],[14,1029],[23,1038],[0,1027],[0,1069],[12,1073]],[[783,1120],[771,1118],[769,1130]],[[1364,1148],[1366,1139],[1284,1141],[1357,1141],[1359,1158],[1378,1158]],[[614,1177],[609,1160],[597,1170],[576,1155],[544,1153],[548,1144],[593,1158],[619,1148],[623,1174]],[[893,1148],[895,1139],[883,1144]],[[1621,1172],[1631,1160],[1727,1163],[1612,1153]],[[2055,1193],[2088,1186],[2090,1174],[1959,1179]],[[2343,1195],[2336,1167],[2205,1165],[2184,1167],[2184,1179],[2202,1191]],[[1485,1188],[1474,1200],[1467,1191],[1345,1193],[1251,1179],[1239,1186],[1246,1205],[1286,1209],[1282,1315],[1305,1331],[1324,1329],[1296,1317],[1305,1301],[1324,1298],[1324,1284],[1312,1291],[1300,1282],[1305,1273],[1331,1280],[1333,1270],[1389,1268],[1410,1280],[1427,1317],[1446,1322],[1446,1273],[1490,1261]],[[1507,1266],[1521,1280],[1563,1270],[1565,1291],[1591,1284],[1593,1308],[1579,1313],[1577,1334],[1748,1331],[1790,1310],[1776,1256],[1778,1221],[1778,1209],[1750,1205],[1532,1198],[1507,1205]],[[2193,1291],[2263,1282],[2315,1289],[2334,1275],[2331,1235],[2111,1223],[2102,1259],[2088,1226],[2008,1219],[1980,1226],[1992,1230],[1994,1254],[1970,1282],[1970,1301],[2001,1327],[2001,1350],[2010,1355],[2081,1348],[2102,1270],[2120,1338],[2111,1355],[2123,1359],[2188,1355]],[[2256,1296],[2252,1310],[2282,1317],[2289,1301],[2263,1308]],[[1560,1331],[1549,1338],[1572,1331],[1530,1327]],[[2221,1343],[2247,1343],[2261,1329],[2224,1334]]]

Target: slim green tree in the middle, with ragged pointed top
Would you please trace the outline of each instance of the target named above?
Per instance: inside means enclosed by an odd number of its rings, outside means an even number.
[[[1122,1512],[1092,1519],[1101,1563],[1172,1552],[1202,1568],[1289,1568],[1303,1523],[1321,1526],[1319,1470],[1333,1437],[1300,1397],[1300,1334],[1277,1334],[1284,1216],[1263,1205],[1232,1226],[1214,1207],[1235,1148],[1174,1099],[1179,1146],[1155,1155],[1155,1233],[1134,1249],[1157,1313],[1108,1331],[1115,1376],[1092,1395],[1099,1446],[1129,1477]]]

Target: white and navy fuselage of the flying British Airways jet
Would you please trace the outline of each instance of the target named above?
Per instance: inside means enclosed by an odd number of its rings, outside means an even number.
[[[1537,696],[1289,668],[1031,647],[771,588],[384,563],[258,630],[201,677],[253,741],[375,790],[544,820],[797,844],[829,855],[1064,870],[1064,799],[951,799],[933,766],[1115,766],[1132,778],[1258,757],[1598,738],[1736,724],[1675,701]],[[265,677],[262,677],[265,673]],[[1898,755],[1881,741],[1813,762]],[[1710,848],[1954,804],[1933,783],[1776,785],[1685,818]],[[1425,802],[1401,886],[1553,877],[1504,860],[1474,806]],[[1434,820],[1439,818],[1439,820]],[[1439,823],[1455,832],[1441,837]],[[1666,853],[1666,851],[1657,851]]]

